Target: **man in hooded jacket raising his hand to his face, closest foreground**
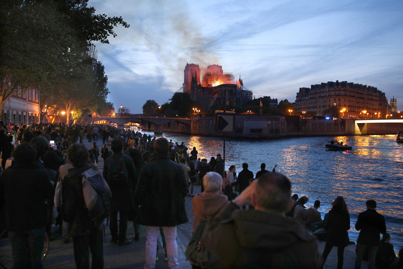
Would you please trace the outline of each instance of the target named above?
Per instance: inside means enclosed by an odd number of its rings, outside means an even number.
[[[254,209],[241,210],[245,204]],[[285,217],[291,206],[288,178],[265,173],[212,221],[201,243],[222,268],[318,268],[321,257],[313,234]]]

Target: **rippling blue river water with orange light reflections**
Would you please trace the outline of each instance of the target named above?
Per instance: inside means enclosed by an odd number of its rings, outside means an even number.
[[[141,131],[141,130],[140,130]],[[142,132],[144,133],[144,132]],[[154,136],[152,132],[145,132]],[[223,138],[164,133],[173,142],[184,142],[189,151],[195,146],[198,157],[222,155]],[[160,137],[157,135],[157,138]],[[327,150],[330,140],[343,140],[353,148],[347,151]],[[225,168],[235,165],[237,173],[242,163],[249,170],[260,170],[266,163],[271,171],[286,175],[292,184],[292,193],[307,196],[306,205],[321,201],[322,219],[331,209],[337,196],[344,196],[350,213],[349,238],[357,241],[355,230],[358,214],[366,210],[365,202],[374,199],[376,210],[385,217],[386,229],[391,234],[395,252],[403,248],[403,144],[395,135],[382,136],[315,136],[276,138],[270,140],[226,139]]]

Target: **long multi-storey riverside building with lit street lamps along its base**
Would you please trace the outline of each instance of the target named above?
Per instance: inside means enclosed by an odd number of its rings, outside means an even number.
[[[296,111],[312,111],[325,116],[326,110],[336,106],[341,117],[385,118],[390,106],[385,94],[376,87],[353,82],[329,81],[299,88],[294,108]]]

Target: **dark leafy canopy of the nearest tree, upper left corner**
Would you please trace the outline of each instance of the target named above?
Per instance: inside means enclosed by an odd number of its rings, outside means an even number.
[[[0,2],[0,111],[19,91],[74,87],[78,67],[85,64],[82,51],[92,41],[109,43],[116,25],[129,27],[121,17],[96,15],[87,2]]]

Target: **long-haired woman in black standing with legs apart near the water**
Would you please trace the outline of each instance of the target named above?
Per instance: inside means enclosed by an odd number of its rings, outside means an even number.
[[[332,202],[325,229],[328,230],[325,249],[323,250],[323,264],[333,246],[337,246],[337,268],[343,268],[344,248],[349,244],[350,215],[343,196],[337,196]],[[322,265],[323,267],[323,265]],[[321,267],[321,268],[322,268]]]

